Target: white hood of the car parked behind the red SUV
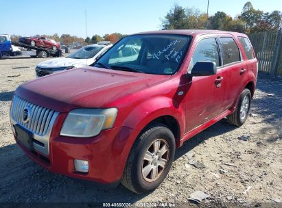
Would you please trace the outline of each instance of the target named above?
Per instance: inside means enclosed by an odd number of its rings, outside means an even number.
[[[88,59],[72,59],[68,57],[56,57],[51,60],[46,60],[44,62],[40,62],[37,66],[40,68],[58,68],[58,67],[67,67],[73,66],[74,64],[78,65],[90,65],[90,60]]]

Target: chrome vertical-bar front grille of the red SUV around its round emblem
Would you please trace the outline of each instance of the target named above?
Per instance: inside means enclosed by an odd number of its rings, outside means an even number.
[[[23,110],[26,107],[29,107],[32,112],[30,112],[30,120],[28,122],[23,122]],[[52,109],[35,105],[25,99],[21,99],[19,96],[14,96],[11,109],[12,119],[21,126],[25,127],[25,129],[32,131],[32,133],[40,136],[45,135],[51,120],[54,120],[57,115],[58,112]]]

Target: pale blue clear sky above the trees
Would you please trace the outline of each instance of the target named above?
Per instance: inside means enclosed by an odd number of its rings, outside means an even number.
[[[4,3],[1,3],[1,2]],[[85,38],[85,10],[87,35],[132,34],[161,29],[161,19],[174,3],[183,7],[207,11],[207,0],[0,0],[0,34],[33,36],[35,34],[71,34]],[[232,3],[233,2],[233,3]],[[209,13],[226,12],[236,16],[246,0],[210,0]],[[282,9],[281,0],[254,0],[255,9],[264,12]]]

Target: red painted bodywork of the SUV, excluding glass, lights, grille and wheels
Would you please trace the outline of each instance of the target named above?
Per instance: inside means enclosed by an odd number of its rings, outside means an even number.
[[[160,116],[172,116],[180,127],[181,146],[196,133],[207,129],[231,114],[242,90],[257,79],[257,59],[246,60],[237,36],[244,34],[224,31],[172,30],[151,34],[187,34],[190,47],[180,69],[174,75],[148,75],[104,68],[85,67],[69,70],[24,83],[16,90],[23,99],[60,112],[50,138],[49,164],[34,154],[29,155],[52,172],[70,177],[110,183],[118,181],[134,140],[140,131]],[[145,33],[148,34],[148,33]],[[244,61],[223,66],[217,75],[187,77],[186,71],[196,44],[203,37],[231,36],[237,42]],[[245,68],[244,74],[240,70]],[[215,79],[223,77],[222,87],[215,88]],[[178,92],[183,91],[183,95]],[[112,129],[93,138],[60,136],[60,129],[71,109],[82,107],[117,107]],[[76,173],[73,159],[89,161],[88,174]]]

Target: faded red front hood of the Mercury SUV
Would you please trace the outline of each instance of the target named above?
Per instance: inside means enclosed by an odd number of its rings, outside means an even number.
[[[87,66],[23,83],[16,94],[37,105],[69,112],[80,107],[103,107],[170,77]]]

